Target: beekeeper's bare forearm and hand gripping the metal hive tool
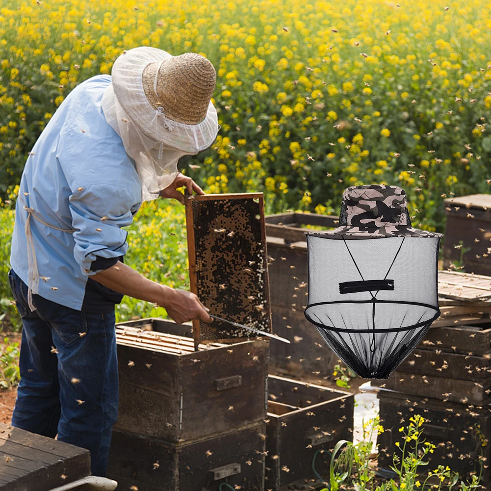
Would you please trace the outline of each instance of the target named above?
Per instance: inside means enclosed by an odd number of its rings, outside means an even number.
[[[178,324],[191,319],[201,319],[208,324],[212,322],[212,318],[207,313],[209,309],[194,293],[149,280],[120,261],[106,270],[93,274],[91,278],[115,292],[164,307],[172,320]]]

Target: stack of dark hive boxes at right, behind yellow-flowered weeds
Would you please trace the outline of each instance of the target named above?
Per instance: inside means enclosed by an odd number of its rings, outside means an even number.
[[[421,414],[423,436],[436,445],[431,469],[448,465],[462,476],[479,472],[490,482],[491,323],[430,329],[418,347],[387,380],[374,380],[380,417],[379,465],[392,465],[401,440],[398,428]],[[383,390],[385,389],[385,390]],[[486,460],[481,461],[479,457]],[[430,469],[430,470],[431,470]]]

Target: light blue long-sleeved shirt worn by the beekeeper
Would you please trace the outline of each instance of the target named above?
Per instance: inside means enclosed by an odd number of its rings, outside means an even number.
[[[32,293],[76,310],[94,285],[104,291],[89,276],[126,253],[128,232],[122,227],[132,223],[141,204],[135,161],[101,108],[110,82],[110,75],[97,75],[68,94],[34,144],[20,183],[19,197],[38,217],[75,229],[55,230],[30,217],[37,269],[45,278]],[[10,264],[25,283],[27,215],[18,199]]]

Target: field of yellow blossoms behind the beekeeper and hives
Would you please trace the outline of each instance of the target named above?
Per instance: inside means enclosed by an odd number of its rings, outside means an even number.
[[[3,0],[3,199],[64,97],[141,45],[217,69],[217,145],[186,170],[206,192],[337,213],[349,185],[396,184],[442,231],[444,196],[491,190],[486,0]]]

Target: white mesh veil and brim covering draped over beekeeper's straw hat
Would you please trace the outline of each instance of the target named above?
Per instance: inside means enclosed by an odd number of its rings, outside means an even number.
[[[211,101],[206,118],[196,125],[172,121],[165,116],[163,108],[154,109],[148,102],[141,82],[143,69],[148,63],[164,61],[169,56],[156,48],[134,48],[126,52],[123,62],[118,64],[121,55],[114,63],[112,82],[101,102],[107,122],[121,137],[126,153],[136,162],[142,201],[157,198],[176,178],[178,160],[208,148],[218,134],[217,111]],[[115,79],[125,97],[124,106],[134,114],[133,118],[116,97]]]

